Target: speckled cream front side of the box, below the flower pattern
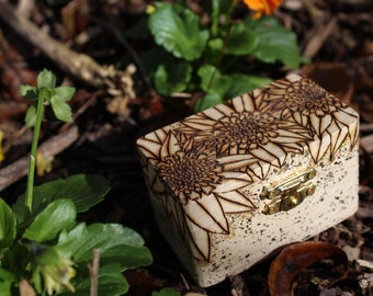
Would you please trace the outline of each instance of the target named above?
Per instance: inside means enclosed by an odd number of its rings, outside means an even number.
[[[310,238],[355,213],[359,201],[358,151],[344,150],[331,163],[316,167],[315,193],[293,209],[273,215],[229,216],[229,236],[212,235],[211,262],[196,263],[197,282],[203,286],[221,282],[227,275],[250,267],[280,247]],[[298,159],[298,162],[303,160]],[[251,186],[253,192],[260,192],[260,184]]]

